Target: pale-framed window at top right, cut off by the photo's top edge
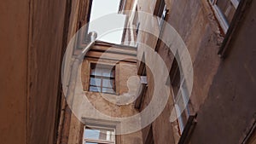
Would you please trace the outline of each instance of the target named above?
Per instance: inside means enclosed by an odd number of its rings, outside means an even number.
[[[228,31],[240,0],[210,0],[216,17],[224,32]]]

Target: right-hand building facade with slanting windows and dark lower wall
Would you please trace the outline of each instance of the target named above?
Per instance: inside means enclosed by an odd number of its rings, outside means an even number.
[[[138,45],[137,57],[141,61],[154,59],[154,56],[146,55],[148,48],[154,49],[166,62],[171,82],[166,85],[170,86],[172,91],[164,111],[151,125],[143,129],[143,142],[249,143],[249,135],[253,135],[255,125],[255,107],[251,102],[255,99],[253,90],[249,90],[248,94],[247,88],[242,88],[240,80],[248,83],[249,87],[254,85],[253,78],[243,77],[247,75],[247,68],[244,66],[253,67],[254,61],[253,57],[249,56],[253,52],[253,40],[246,34],[254,31],[251,27],[255,18],[253,2],[141,0],[134,3],[137,5],[137,11],[152,14],[155,19],[143,14],[130,14],[131,20],[128,21],[132,22],[127,25],[138,27],[136,24],[139,24],[139,30],[136,36],[132,36],[131,31],[126,31],[124,43],[135,37]],[[131,13],[136,15],[137,12],[133,9]],[[133,22],[134,20],[137,22]],[[172,39],[167,24],[163,24],[161,20],[166,20],[177,31],[191,56],[194,84],[190,97],[188,81],[183,77],[183,65],[186,63],[179,63],[182,52],[178,49],[181,48],[177,47],[177,51],[173,53],[169,49],[172,45],[161,41],[165,37]],[[247,26],[248,29],[245,28]],[[144,31],[146,29],[154,29],[159,37],[148,34]],[[241,37],[247,37],[247,40]],[[238,44],[241,41],[248,45]],[[146,43],[148,48],[145,49],[141,43]],[[154,68],[164,69],[164,66],[155,65],[153,69],[149,69],[145,62],[139,61],[137,64],[138,75],[143,76],[146,71],[148,79],[148,84],[144,87],[145,92],[137,101],[140,111],[148,107],[154,93],[154,78],[157,76],[152,75],[150,71],[157,71]],[[232,69],[232,72],[226,69]],[[249,69],[248,72],[253,72],[253,69]],[[238,79],[235,80],[234,77]],[[188,106],[184,107],[182,103],[186,102]],[[177,114],[174,121],[170,118],[173,110]]]

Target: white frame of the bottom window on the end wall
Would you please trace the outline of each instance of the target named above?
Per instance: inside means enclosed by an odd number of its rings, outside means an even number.
[[[95,140],[95,139],[88,139],[86,137],[84,137],[84,133],[85,133],[85,130],[86,128],[89,127],[89,128],[95,128],[95,130],[98,130],[98,129],[105,129],[105,130],[113,130],[113,141],[108,141],[108,140]],[[90,124],[86,124],[84,125],[84,133],[83,133],[83,144],[85,144],[86,142],[91,142],[91,143],[100,143],[100,144],[116,144],[116,135],[115,135],[115,129],[112,128],[112,127],[108,127],[108,126],[95,126],[95,125],[90,125]]]

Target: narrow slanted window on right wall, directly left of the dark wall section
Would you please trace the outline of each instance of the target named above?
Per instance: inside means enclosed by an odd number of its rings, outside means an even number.
[[[190,110],[189,110],[189,91],[187,88],[186,80],[183,76],[182,68],[179,68],[181,64],[178,64],[179,57],[174,59],[170,72],[172,95],[174,100],[174,107],[177,113],[177,122],[180,130],[180,135],[183,133],[185,124],[187,124]]]

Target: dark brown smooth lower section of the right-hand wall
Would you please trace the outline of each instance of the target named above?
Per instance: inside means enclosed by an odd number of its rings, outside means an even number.
[[[252,1],[228,45],[198,113],[192,143],[241,143],[255,121],[255,8]]]

